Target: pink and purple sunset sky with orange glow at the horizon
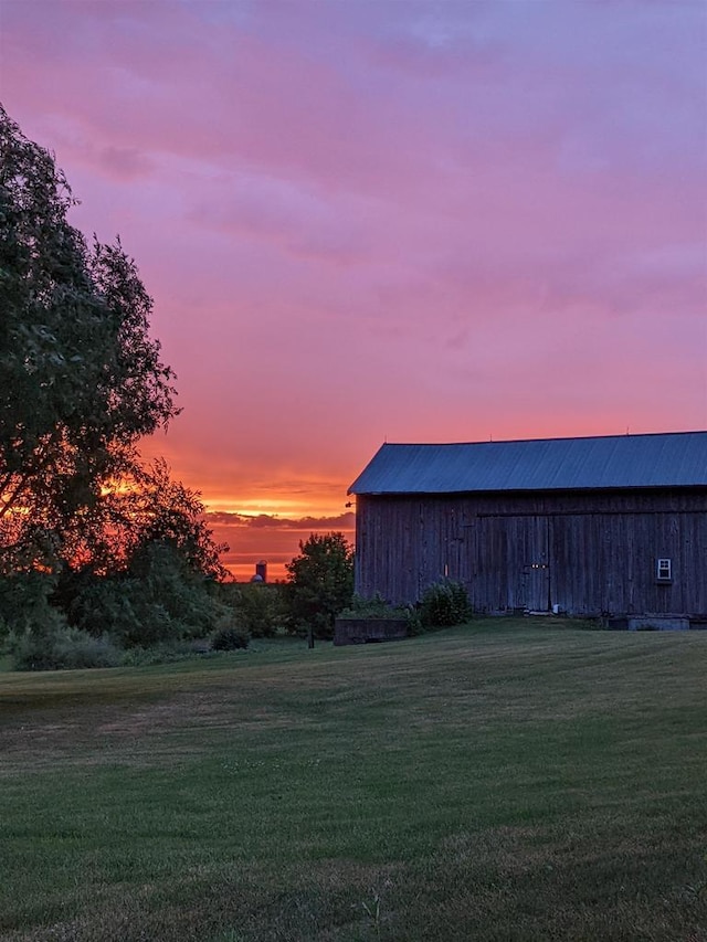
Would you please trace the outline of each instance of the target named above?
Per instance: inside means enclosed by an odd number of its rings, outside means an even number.
[[[707,427],[704,0],[0,0],[0,100],[120,235],[224,562],[388,442]]]

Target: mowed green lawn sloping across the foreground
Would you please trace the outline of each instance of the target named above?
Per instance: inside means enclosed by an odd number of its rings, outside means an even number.
[[[707,939],[707,633],[0,675],[3,940]]]

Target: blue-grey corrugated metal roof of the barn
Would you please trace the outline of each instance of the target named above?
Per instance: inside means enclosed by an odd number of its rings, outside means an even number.
[[[349,494],[707,486],[707,432],[382,445]]]

